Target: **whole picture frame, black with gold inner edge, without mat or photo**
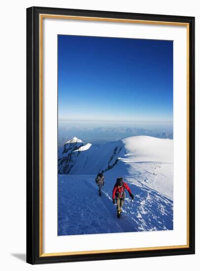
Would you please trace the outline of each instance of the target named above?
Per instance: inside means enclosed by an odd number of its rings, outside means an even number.
[[[55,20],[106,22],[130,25],[185,27],[187,32],[187,243],[171,246],[129,247],[86,251],[43,251],[43,22]],[[46,56],[45,56],[46,57]],[[55,92],[57,89],[55,89]],[[178,129],[178,128],[177,128]],[[179,154],[181,155],[181,154]],[[185,166],[183,166],[183,169]],[[45,170],[48,170],[45,168]],[[185,169],[186,170],[186,169]],[[53,180],[57,181],[57,180]],[[56,219],[56,218],[55,218]],[[69,239],[70,240],[70,239]],[[77,240],[77,239],[76,239]],[[78,242],[78,241],[77,241]],[[27,263],[44,264],[75,261],[126,259],[195,253],[195,18],[50,7],[27,8]]]

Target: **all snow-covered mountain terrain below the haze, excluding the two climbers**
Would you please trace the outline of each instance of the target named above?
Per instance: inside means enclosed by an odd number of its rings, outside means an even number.
[[[60,169],[68,170],[58,178],[59,235],[173,229],[173,140],[132,136],[100,147],[75,141],[66,143],[67,156],[59,160]],[[99,197],[95,178],[102,170]],[[119,176],[135,198],[131,202],[127,194],[117,219],[111,195]]]

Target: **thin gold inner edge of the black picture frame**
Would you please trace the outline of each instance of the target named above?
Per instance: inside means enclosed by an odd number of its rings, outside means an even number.
[[[87,21],[107,21],[107,22],[119,22],[119,23],[155,24],[155,25],[170,25],[170,26],[186,26],[187,27],[187,244],[186,245],[43,253],[43,163],[42,163],[43,162],[43,18],[87,20]],[[40,144],[39,145],[39,190],[40,190],[39,191],[39,211],[40,211],[40,214],[39,214],[39,257],[189,248],[189,78],[190,78],[189,77],[189,23],[39,14],[39,110],[40,110],[39,111],[39,144]]]

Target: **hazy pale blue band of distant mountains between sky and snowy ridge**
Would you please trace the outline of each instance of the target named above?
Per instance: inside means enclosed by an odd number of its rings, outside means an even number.
[[[58,145],[76,136],[85,143],[103,144],[133,135],[173,138],[173,124],[155,122],[87,122],[59,121]]]

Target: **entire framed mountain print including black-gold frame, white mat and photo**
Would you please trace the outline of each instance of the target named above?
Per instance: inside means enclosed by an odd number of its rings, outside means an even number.
[[[27,262],[195,253],[195,18],[27,9]]]

